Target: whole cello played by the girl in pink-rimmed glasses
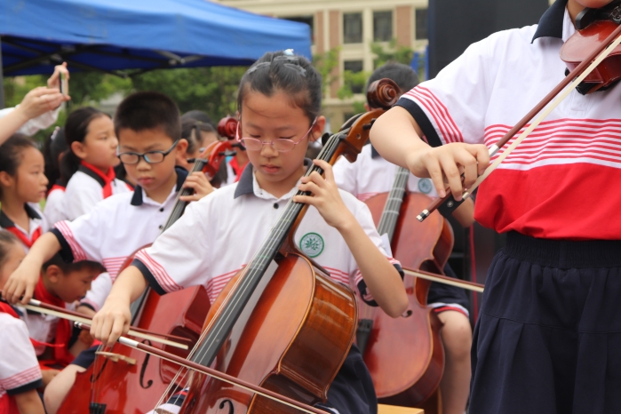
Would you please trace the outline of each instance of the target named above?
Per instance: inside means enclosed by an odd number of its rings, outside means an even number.
[[[387,95],[396,100],[394,88]],[[345,155],[353,161],[382,112],[352,118],[318,158],[334,162]],[[314,171],[322,172],[315,165],[307,175]],[[349,352],[356,302],[353,291],[295,247],[293,235],[306,211],[307,204],[287,203],[249,264],[212,304],[190,360],[312,405],[326,400]],[[201,374],[187,388],[185,413],[297,412]]]

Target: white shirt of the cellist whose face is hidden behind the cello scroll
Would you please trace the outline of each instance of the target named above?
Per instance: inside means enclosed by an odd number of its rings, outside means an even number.
[[[387,162],[374,147],[365,145],[355,163],[340,157],[332,171],[338,188],[355,195],[358,200],[368,200],[373,195],[388,193],[394,184],[394,176],[399,167]],[[412,193],[423,193],[437,198],[431,179],[419,179],[410,174],[408,190]]]

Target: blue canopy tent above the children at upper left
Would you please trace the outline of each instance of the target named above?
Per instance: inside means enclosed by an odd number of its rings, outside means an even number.
[[[4,76],[51,74],[62,61],[127,76],[250,65],[290,48],[311,57],[307,25],[206,0],[3,0],[0,36]]]

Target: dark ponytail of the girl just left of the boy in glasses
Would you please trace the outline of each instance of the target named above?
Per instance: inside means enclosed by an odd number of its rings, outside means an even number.
[[[62,155],[60,162],[60,175],[63,179],[69,181],[71,177],[80,168],[82,161],[72,150],[71,144],[74,142],[84,142],[89,131],[89,124],[95,118],[100,116],[108,116],[105,112],[101,112],[94,107],[79,107],[67,117],[65,123],[65,141],[67,142],[67,150]]]

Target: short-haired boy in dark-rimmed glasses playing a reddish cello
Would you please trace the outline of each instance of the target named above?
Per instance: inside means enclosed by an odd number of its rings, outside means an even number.
[[[181,135],[179,109],[158,92],[138,92],[127,97],[115,115],[118,155],[127,174],[137,183],[133,193],[112,195],[88,214],[74,221],[60,221],[42,235],[7,282],[4,292],[26,286],[24,300],[32,297],[43,263],[60,252],[65,261],[94,260],[106,267],[82,301],[82,310],[94,314],[107,298],[123,262],[133,251],[153,243],[175,204],[187,172],[175,168],[175,155],[187,147]],[[201,174],[206,180],[204,174]],[[8,289],[7,289],[8,288]],[[9,295],[7,295],[8,298]],[[89,350],[92,351],[92,350]],[[84,351],[46,390],[48,412],[56,412],[73,385],[77,371],[94,360]]]

